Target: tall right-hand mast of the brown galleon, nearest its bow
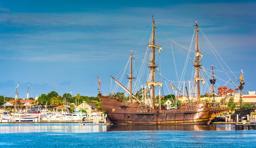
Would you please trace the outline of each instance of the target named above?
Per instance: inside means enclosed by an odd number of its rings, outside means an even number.
[[[200,100],[200,81],[203,81],[204,84],[204,78],[200,78],[200,58],[203,57],[203,55],[199,52],[199,41],[198,41],[198,24],[197,21],[195,20],[195,30],[196,30],[196,35],[195,35],[195,59],[193,66],[195,67],[195,85],[197,87],[197,93],[198,93],[198,101]]]

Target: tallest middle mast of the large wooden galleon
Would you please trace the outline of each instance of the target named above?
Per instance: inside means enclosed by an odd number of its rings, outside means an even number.
[[[151,44],[148,43],[148,47],[151,47],[151,61],[148,61],[148,67],[151,69],[151,81],[146,82],[148,84],[148,87],[151,87],[151,91],[152,91],[152,102],[153,102],[153,109],[155,108],[155,87],[157,85],[159,85],[159,87],[162,87],[162,82],[155,82],[155,70],[156,67],[158,67],[155,64],[155,48],[158,48],[159,51],[162,50],[161,46],[157,46],[155,45],[155,22],[154,22],[154,16],[152,15],[152,20],[153,20],[153,27],[152,27],[152,40],[151,40]],[[160,97],[160,96],[159,96]]]

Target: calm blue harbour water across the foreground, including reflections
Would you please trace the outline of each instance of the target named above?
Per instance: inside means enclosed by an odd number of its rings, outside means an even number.
[[[234,125],[94,126],[0,124],[0,148],[256,147],[256,131]]]

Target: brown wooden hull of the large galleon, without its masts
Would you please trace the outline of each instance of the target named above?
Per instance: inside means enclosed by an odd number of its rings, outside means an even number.
[[[230,107],[217,107],[213,110],[206,102],[184,103],[177,109],[152,109],[142,107],[138,102],[127,102],[122,106],[118,98],[101,96],[103,108],[111,124],[209,124],[218,114],[229,111]]]

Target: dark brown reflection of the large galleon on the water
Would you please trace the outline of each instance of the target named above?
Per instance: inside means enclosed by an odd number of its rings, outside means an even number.
[[[109,125],[107,131],[231,131],[234,125]]]

